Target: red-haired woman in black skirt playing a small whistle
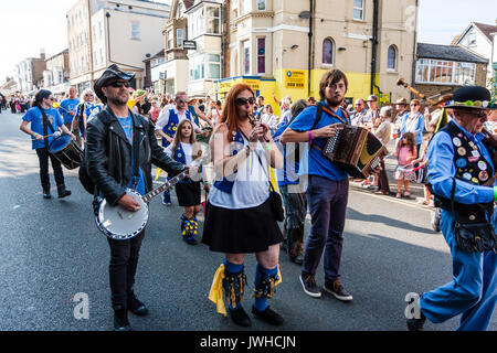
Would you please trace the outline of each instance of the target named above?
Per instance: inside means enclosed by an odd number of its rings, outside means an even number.
[[[202,237],[212,252],[225,254],[209,299],[225,314],[224,293],[232,320],[242,327],[251,325],[241,304],[247,253],[255,253],[257,260],[252,313],[268,323],[283,324],[283,318],[266,303],[281,281],[278,256],[283,240],[269,202],[268,167],[283,168],[283,156],[268,126],[253,119],[254,104],[254,92],[245,84],[233,86],[226,96],[210,140],[215,178]]]

